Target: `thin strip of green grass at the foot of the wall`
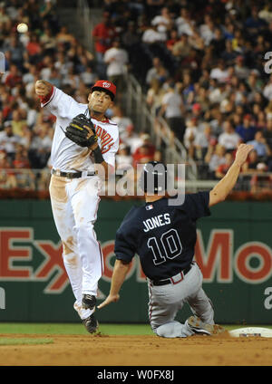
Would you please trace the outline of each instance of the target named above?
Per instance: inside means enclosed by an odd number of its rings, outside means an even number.
[[[227,330],[234,330],[244,327],[261,327],[272,329],[272,325],[242,325],[232,324],[224,325]],[[99,331],[106,335],[153,335],[149,324],[100,324]],[[17,323],[0,322],[1,333],[24,333],[24,334],[66,334],[66,335],[84,335],[88,332],[83,324],[79,323]],[[2,339],[0,338],[0,341]]]

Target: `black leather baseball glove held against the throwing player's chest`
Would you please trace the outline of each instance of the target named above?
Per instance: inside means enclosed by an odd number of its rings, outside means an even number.
[[[81,147],[92,147],[97,141],[92,120],[80,114],[73,118],[65,131],[65,136]]]

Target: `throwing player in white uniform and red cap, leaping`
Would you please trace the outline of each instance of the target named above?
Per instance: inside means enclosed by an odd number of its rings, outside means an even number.
[[[116,87],[112,82],[96,82],[88,104],[74,101],[43,80],[36,82],[35,91],[41,106],[56,116],[49,187],[53,219],[63,242],[63,263],[75,296],[73,307],[92,333],[98,328],[93,312],[103,270],[93,224],[100,201],[99,176],[107,178],[114,169],[119,145],[118,127],[105,116]]]

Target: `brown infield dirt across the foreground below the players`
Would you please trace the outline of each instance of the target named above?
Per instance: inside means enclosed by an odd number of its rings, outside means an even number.
[[[272,339],[227,335],[163,339],[158,336],[18,335],[53,344],[0,346],[2,366],[235,366],[272,365]],[[2,334],[0,337],[13,338]]]

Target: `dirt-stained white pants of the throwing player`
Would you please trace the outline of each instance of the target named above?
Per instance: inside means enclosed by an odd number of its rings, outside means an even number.
[[[82,307],[83,294],[97,295],[103,261],[93,224],[100,202],[97,176],[63,178],[52,175],[50,197],[53,219],[63,242],[63,263],[75,296],[74,309],[81,319],[94,312]]]

